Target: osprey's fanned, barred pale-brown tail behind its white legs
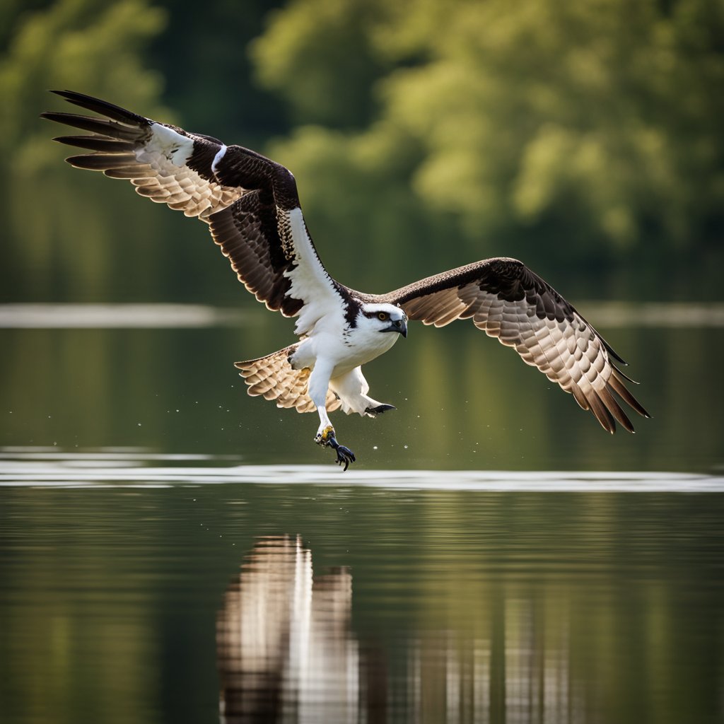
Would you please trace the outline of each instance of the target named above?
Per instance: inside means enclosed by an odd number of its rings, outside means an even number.
[[[249,395],[263,395],[265,400],[276,400],[279,408],[295,408],[297,412],[316,410],[307,394],[310,369],[293,369],[289,361],[299,344],[297,342],[266,357],[234,364],[249,386]],[[325,400],[327,412],[336,410],[341,404],[334,392],[329,390]]]

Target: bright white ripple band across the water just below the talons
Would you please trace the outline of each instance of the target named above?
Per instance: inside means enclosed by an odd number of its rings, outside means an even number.
[[[724,492],[724,476],[591,471],[366,470],[332,465],[228,465],[230,458],[140,450],[0,449],[3,487],[321,484],[487,492]],[[152,463],[150,465],[149,463]],[[198,464],[188,464],[198,463]]]

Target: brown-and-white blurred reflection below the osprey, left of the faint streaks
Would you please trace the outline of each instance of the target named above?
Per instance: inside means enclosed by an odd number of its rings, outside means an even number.
[[[259,539],[217,621],[222,722],[356,722],[351,605],[347,569],[313,576],[298,537]]]

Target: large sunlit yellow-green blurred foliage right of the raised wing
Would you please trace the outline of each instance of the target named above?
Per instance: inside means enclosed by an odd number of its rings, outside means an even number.
[[[344,12],[353,47],[384,72],[356,92],[379,113],[343,139],[340,118],[320,118],[324,103],[298,83],[314,78],[329,104],[343,101],[350,75],[359,80],[349,69],[355,54],[326,42],[343,11],[332,24],[327,0],[293,0],[254,46],[261,80],[295,117],[326,122],[273,147],[298,178],[308,177],[301,188],[314,213],[324,206],[355,241],[394,249],[394,224],[383,224],[381,236],[376,222],[386,209],[399,212],[390,198],[405,188],[406,210],[417,209],[407,218],[424,219],[427,229],[411,237],[428,252],[441,230],[427,222],[452,214],[460,223],[445,241],[473,257],[515,253],[571,268],[626,261],[659,271],[692,252],[699,258],[687,261],[722,259],[722,4],[360,5]],[[319,46],[337,57],[319,62],[310,52]],[[361,148],[382,153],[373,161]],[[324,184],[319,167],[329,174]],[[344,224],[350,197],[374,214]]]

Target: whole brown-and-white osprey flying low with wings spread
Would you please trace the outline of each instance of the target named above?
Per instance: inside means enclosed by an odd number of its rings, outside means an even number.
[[[296,317],[299,341],[237,362],[250,395],[278,407],[319,413],[314,441],[332,447],[347,470],[354,453],[337,442],[329,413],[374,417],[394,407],[367,394],[362,365],[407,336],[408,321],[442,327],[472,319],[515,348],[599,423],[633,426],[613,392],[649,414],[626,388],[625,364],[595,329],[521,261],[491,258],[421,279],[388,294],[363,294],[329,276],[307,230],[294,177],[271,159],[211,136],[189,133],[106,101],[55,90],[101,117],[49,112],[51,121],[90,135],[56,138],[91,153],[66,159],[81,169],[128,179],[151,201],[209,224],[240,282],[272,311]]]

